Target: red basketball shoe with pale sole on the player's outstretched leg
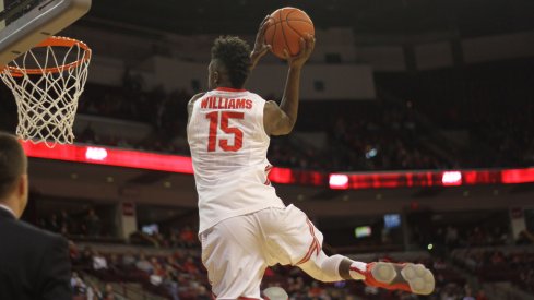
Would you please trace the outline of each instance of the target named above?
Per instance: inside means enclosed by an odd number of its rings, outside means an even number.
[[[351,267],[351,271],[364,275],[366,285],[372,287],[418,295],[429,295],[435,287],[432,273],[422,264],[375,262],[367,264],[365,272],[356,267]]]

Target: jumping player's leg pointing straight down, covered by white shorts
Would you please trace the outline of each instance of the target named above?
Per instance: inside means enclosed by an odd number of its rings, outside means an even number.
[[[229,218],[201,233],[202,262],[216,299],[261,299],[266,268],[250,215]]]

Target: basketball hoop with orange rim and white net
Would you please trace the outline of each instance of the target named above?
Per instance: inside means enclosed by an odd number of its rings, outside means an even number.
[[[85,43],[51,36],[0,70],[15,97],[20,137],[48,147],[73,143],[72,127],[90,61]]]

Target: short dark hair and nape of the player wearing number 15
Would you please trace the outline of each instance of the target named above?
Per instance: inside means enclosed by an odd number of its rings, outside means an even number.
[[[237,36],[221,36],[212,47],[212,60],[219,60],[232,83],[232,87],[241,88],[250,74],[250,46]]]

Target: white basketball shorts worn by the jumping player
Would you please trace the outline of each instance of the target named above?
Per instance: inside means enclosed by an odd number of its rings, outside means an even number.
[[[321,252],[323,236],[302,211],[289,205],[225,219],[200,239],[217,299],[261,299],[265,268],[306,263]]]

